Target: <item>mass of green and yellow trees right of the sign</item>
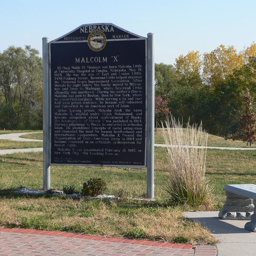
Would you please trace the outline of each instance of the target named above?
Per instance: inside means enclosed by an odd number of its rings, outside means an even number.
[[[241,130],[246,90],[256,97],[256,44],[237,52],[220,45],[210,53],[190,51],[176,64],[156,64],[156,95],[168,97],[172,115],[230,137]]]

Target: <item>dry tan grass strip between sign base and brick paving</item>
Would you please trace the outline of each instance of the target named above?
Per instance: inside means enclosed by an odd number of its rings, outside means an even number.
[[[184,218],[179,208],[69,198],[8,198],[6,201],[0,199],[0,224],[3,226],[165,242],[216,242],[208,230]]]

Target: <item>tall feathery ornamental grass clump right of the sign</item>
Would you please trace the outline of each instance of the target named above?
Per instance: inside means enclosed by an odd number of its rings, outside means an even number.
[[[198,127],[189,122],[186,128],[182,126],[170,116],[165,121],[167,130],[162,130],[165,143],[170,145],[170,176],[163,188],[170,195],[171,204],[200,206],[210,191],[204,176],[208,134],[202,130],[202,123]]]

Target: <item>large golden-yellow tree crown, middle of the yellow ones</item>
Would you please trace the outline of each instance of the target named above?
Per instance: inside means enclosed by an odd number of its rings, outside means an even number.
[[[204,82],[213,89],[217,84],[227,82],[234,70],[242,68],[243,64],[242,54],[238,54],[234,46],[220,45],[204,54]]]

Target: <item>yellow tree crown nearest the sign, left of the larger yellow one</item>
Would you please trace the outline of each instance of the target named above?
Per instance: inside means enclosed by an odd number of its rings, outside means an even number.
[[[201,69],[202,60],[201,54],[197,51],[188,52],[186,56],[180,55],[176,58],[175,64],[177,72],[180,74],[180,84],[186,86],[199,87],[202,86]]]

